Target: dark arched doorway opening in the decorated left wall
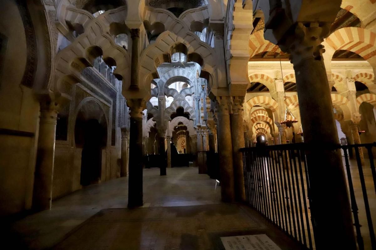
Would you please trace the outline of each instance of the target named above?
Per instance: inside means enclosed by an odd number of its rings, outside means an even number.
[[[85,102],[77,114],[74,127],[77,148],[82,148],[80,184],[98,183],[102,172],[102,150],[107,146],[107,122],[100,105]]]

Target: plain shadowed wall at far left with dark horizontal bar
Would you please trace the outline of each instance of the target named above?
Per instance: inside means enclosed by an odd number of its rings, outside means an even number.
[[[31,208],[39,103],[22,85],[26,36],[13,0],[0,4],[0,216]]]

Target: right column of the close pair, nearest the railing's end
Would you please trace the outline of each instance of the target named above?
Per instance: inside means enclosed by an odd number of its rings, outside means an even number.
[[[235,199],[236,201],[245,201],[246,193],[244,190],[243,175],[243,156],[240,152],[244,148],[244,130],[243,130],[243,96],[231,97],[231,139],[232,139],[232,157],[234,169]]]

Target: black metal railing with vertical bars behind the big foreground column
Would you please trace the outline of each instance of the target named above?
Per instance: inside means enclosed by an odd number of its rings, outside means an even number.
[[[376,216],[376,143],[333,145],[342,150],[347,191],[353,212],[358,248],[376,249],[372,218]],[[365,156],[364,162],[359,148]],[[307,249],[315,249],[309,178],[308,144],[285,144],[242,148],[247,203]],[[356,159],[349,159],[349,150]],[[324,173],[323,173],[324,174]],[[363,226],[362,226],[363,225]]]

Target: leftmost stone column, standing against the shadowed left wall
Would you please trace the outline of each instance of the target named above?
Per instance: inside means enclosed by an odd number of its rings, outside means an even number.
[[[32,209],[34,211],[51,208],[57,117],[58,112],[53,101],[41,102],[32,201]]]

